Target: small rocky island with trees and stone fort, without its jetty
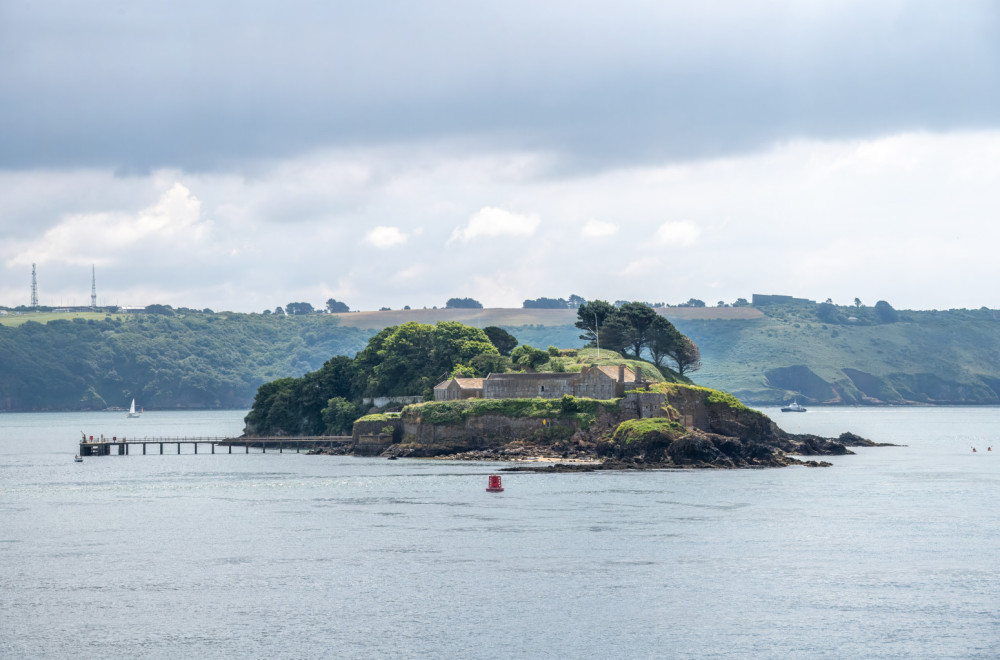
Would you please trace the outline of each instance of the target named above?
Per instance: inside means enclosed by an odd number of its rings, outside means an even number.
[[[578,327],[594,344],[584,349],[518,346],[502,329],[455,322],[385,328],[353,360],[261,386],[245,436],[349,435],[319,451],[545,470],[824,466],[814,457],[876,445],[787,433],[696,385],[685,372],[697,346],[628,305],[582,305]],[[619,350],[600,348],[612,333]]]

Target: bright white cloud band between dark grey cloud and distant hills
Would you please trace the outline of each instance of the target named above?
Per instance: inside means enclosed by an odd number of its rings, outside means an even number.
[[[990,286],[1000,278],[1000,131],[497,174],[531,160],[425,145],[316,153],[252,177],[0,170],[0,304],[27,303],[37,262],[40,296],[53,304],[86,304],[96,263],[100,301],[237,311],[330,297],[353,309],[429,308],[453,296],[517,307],[571,293],[1000,306]],[[352,167],[371,175],[346,176]],[[330,180],[347,182],[330,193]],[[510,201],[473,215],[484,199]],[[589,236],[587,219],[618,232]],[[405,237],[380,253],[393,255],[389,264],[363,242],[378,227],[392,228],[385,242]],[[448,249],[449,237],[462,249]]]

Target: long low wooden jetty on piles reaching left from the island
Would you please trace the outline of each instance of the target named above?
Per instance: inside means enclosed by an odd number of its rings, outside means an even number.
[[[338,447],[341,445],[350,444],[352,438],[349,435],[317,435],[317,436],[303,436],[303,437],[288,437],[288,436],[267,436],[267,437],[255,437],[255,438],[125,438],[118,436],[112,436],[107,438],[105,436],[99,436],[95,438],[94,436],[84,435],[80,440],[80,456],[110,456],[113,453],[117,453],[119,456],[128,456],[130,453],[138,453],[139,447],[142,447],[142,453],[147,453],[147,448],[149,445],[153,445],[153,450],[148,453],[164,453],[164,446],[168,449],[173,449],[174,446],[177,447],[177,453],[180,454],[182,446],[189,446],[194,449],[193,452],[188,453],[198,453],[198,447],[201,446],[204,450],[206,447],[209,452],[216,453],[216,448],[227,448],[228,453],[233,453],[233,447],[242,447],[244,453],[249,454],[250,449],[260,449],[262,453],[267,453],[268,449],[277,449],[278,453],[284,453],[285,449],[291,451],[295,450],[295,453],[299,453],[302,450],[317,449],[319,447]],[[159,449],[159,452],[156,451]],[[172,451],[170,453],[173,453]],[[221,452],[220,452],[221,453]]]

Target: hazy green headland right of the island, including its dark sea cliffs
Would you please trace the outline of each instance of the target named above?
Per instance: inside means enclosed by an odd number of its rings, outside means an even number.
[[[1000,403],[1000,315],[991,310],[763,308],[756,321],[678,321],[701,348],[694,379],[752,403]]]

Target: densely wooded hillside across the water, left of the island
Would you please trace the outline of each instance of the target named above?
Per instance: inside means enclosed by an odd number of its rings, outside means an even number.
[[[0,411],[101,410],[133,397],[146,409],[246,408],[262,383],[353,355],[371,335],[329,315],[167,311],[0,325]]]

